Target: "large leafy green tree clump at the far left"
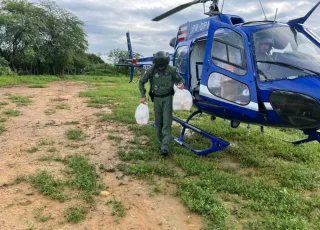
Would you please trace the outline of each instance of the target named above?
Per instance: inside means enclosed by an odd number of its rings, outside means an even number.
[[[54,2],[0,1],[0,55],[14,71],[83,68],[87,47],[83,22]]]

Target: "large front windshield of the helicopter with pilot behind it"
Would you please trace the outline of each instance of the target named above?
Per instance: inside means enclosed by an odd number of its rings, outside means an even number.
[[[280,26],[253,34],[261,81],[320,75],[320,49],[293,27]]]

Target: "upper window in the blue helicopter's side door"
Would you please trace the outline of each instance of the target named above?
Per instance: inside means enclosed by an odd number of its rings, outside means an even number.
[[[211,47],[213,63],[237,75],[246,74],[244,44],[240,34],[233,30],[220,28],[214,33]]]

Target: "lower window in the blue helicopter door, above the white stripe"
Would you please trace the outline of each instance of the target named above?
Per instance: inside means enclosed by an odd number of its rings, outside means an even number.
[[[220,73],[212,73],[208,78],[208,89],[213,95],[239,105],[250,103],[247,85]]]

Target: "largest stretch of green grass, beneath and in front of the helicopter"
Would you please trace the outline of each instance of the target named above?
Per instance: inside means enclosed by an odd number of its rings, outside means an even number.
[[[139,105],[138,85],[127,79],[115,80],[117,90],[101,84],[96,89],[81,92],[91,102],[105,102],[112,98],[119,102],[112,106],[112,114],[97,114],[101,121],[126,124],[135,133],[133,148],[119,149],[122,163],[117,168],[125,175],[152,180],[167,177],[176,186],[179,196],[189,210],[203,216],[204,229],[319,229],[320,228],[320,146],[308,143],[293,146],[282,139],[301,138],[299,131],[241,125],[232,129],[222,119],[211,121],[203,114],[191,121],[201,129],[227,140],[231,145],[224,151],[207,156],[194,153],[172,143],[168,159],[158,153],[153,122],[152,103],[148,103],[150,125],[139,126],[134,111]],[[148,86],[146,86],[148,88]],[[104,101],[105,100],[105,101]],[[188,112],[174,112],[185,119]],[[178,135],[180,127],[173,127]],[[139,137],[149,138],[146,146]],[[109,139],[114,139],[112,135]],[[208,142],[197,134],[185,141],[199,149]],[[163,187],[155,185],[154,193]]]

